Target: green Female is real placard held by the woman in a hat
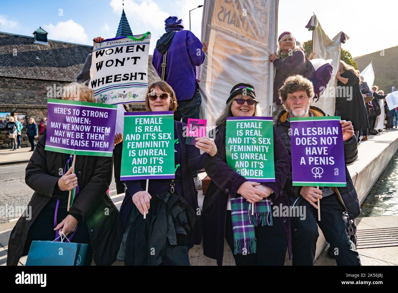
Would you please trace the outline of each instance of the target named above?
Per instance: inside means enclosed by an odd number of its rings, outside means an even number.
[[[226,161],[248,181],[275,182],[272,117],[228,117]]]

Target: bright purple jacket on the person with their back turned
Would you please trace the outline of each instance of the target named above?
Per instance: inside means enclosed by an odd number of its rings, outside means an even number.
[[[201,41],[190,31],[177,31],[167,51],[166,83],[176,92],[178,101],[189,100],[195,94],[196,66],[205,61]],[[152,65],[162,74],[163,54],[153,51]]]

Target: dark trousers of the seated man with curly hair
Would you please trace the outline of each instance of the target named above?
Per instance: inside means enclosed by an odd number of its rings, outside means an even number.
[[[320,221],[318,210],[305,199],[295,206],[302,206],[305,217],[293,217],[293,265],[314,265],[318,226],[330,243],[337,265],[361,265],[355,245],[347,235],[345,209],[336,193],[320,199]]]

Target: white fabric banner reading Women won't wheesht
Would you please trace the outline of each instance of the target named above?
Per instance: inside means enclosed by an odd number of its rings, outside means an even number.
[[[150,32],[94,43],[89,87],[101,104],[143,103],[148,90]]]

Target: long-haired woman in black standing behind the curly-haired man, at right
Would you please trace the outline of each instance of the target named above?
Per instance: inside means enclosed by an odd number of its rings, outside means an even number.
[[[354,67],[340,60],[336,79],[335,114],[341,120],[352,122],[355,137],[358,139],[359,131],[369,128],[365,101],[359,88],[361,76]]]

